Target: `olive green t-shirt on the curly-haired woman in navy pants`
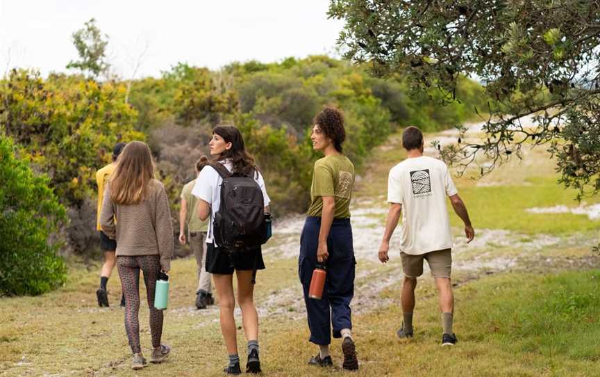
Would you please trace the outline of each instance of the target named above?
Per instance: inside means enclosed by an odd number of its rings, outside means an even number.
[[[310,186],[308,216],[321,216],[323,196],[333,196],[334,218],[350,217],[350,198],[354,184],[354,165],[344,155],[334,154],[315,162],[313,184]]]

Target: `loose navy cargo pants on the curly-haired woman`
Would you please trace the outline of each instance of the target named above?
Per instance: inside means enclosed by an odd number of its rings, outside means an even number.
[[[307,217],[300,236],[298,274],[304,291],[308,314],[310,342],[319,345],[331,343],[333,337],[342,337],[342,328],[352,328],[350,301],[354,296],[354,248],[349,218],[335,218],[327,238],[329,257],[326,262],[327,278],[321,300],[308,298],[310,279],[317,265],[320,217]]]

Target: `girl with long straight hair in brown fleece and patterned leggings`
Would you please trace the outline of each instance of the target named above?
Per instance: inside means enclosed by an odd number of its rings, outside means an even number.
[[[117,168],[104,191],[100,216],[102,231],[117,240],[117,268],[125,294],[125,331],[133,352],[133,369],[142,369],[146,359],[140,347],[140,270],[144,272],[152,355],[150,362],[167,358],[169,346],[160,344],[163,312],[154,307],[154,290],[160,271],[167,272],[173,254],[173,226],[167,193],[154,179],[150,148],[146,143],[128,143],[117,160]]]

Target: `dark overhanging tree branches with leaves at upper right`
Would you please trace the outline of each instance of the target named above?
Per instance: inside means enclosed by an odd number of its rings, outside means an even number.
[[[435,88],[442,103],[462,100],[463,74],[486,83],[488,137],[448,147],[448,161],[485,174],[547,144],[578,198],[600,190],[600,1],[332,0],[329,15],[346,22],[346,57],[377,76]]]

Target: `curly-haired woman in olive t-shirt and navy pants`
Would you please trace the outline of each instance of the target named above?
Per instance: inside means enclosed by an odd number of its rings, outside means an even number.
[[[346,138],[344,118],[337,109],[326,108],[313,120],[310,140],[313,149],[325,157],[315,162],[310,187],[310,207],[300,238],[299,277],[308,314],[310,342],[319,353],[308,364],[333,365],[329,355],[333,337],[342,337],[344,369],[358,369],[352,337],[350,301],[354,295],[354,249],[350,225],[350,199],[354,184],[353,163],[342,153]],[[322,298],[310,298],[308,291],[317,262],[326,267]]]

